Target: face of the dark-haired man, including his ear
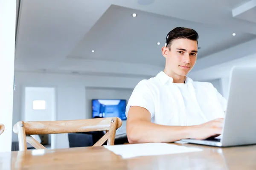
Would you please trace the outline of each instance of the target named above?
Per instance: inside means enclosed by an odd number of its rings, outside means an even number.
[[[162,53],[166,57],[166,70],[179,76],[186,76],[196,62],[198,45],[189,39],[173,40],[171,50],[163,47]]]

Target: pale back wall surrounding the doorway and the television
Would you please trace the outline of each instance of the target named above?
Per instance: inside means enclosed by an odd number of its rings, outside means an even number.
[[[90,108],[86,100],[95,97],[128,98],[137,83],[143,78],[129,77],[100,77],[76,74],[47,74],[15,72],[16,91],[14,93],[13,124],[22,120],[22,101],[24,87],[54,87],[56,89],[57,120],[90,118]],[[87,90],[88,95],[87,95]],[[123,94],[123,95],[122,95]],[[111,96],[113,95],[113,96]],[[13,141],[17,141],[17,134],[13,133]],[[67,134],[56,135],[56,148],[68,147]]]

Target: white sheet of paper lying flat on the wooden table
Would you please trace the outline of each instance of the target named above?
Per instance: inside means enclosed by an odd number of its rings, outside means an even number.
[[[202,151],[202,149],[194,147],[185,147],[166,143],[120,144],[113,146],[105,145],[104,147],[108,150],[111,150],[116,155],[121,155],[124,159],[137,156],[152,156]]]

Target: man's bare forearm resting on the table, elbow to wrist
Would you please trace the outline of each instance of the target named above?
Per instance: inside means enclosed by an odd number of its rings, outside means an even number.
[[[194,132],[192,126],[166,126],[146,121],[134,122],[129,126],[127,137],[130,143],[175,142],[191,138]]]

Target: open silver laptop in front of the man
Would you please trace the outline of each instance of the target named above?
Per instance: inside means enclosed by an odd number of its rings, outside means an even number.
[[[256,144],[256,67],[234,66],[221,137],[183,142],[216,147]]]

